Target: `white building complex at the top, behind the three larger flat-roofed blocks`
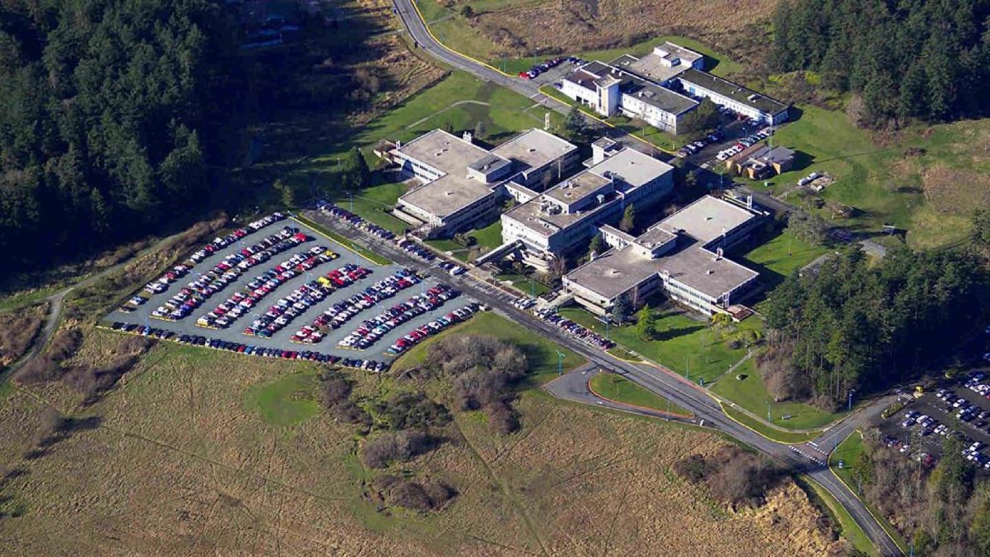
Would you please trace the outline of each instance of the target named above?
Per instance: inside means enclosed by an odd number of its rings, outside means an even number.
[[[563,77],[560,92],[602,116],[624,114],[678,133],[702,98],[767,124],[787,120],[787,105],[704,71],[704,56],[664,43],[646,56],[590,61]]]

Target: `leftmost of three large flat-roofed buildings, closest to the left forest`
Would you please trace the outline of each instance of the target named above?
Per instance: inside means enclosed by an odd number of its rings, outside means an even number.
[[[387,159],[422,182],[399,197],[393,214],[429,236],[487,224],[502,201],[522,189],[534,194],[577,165],[577,147],[543,130],[524,132],[486,150],[434,130],[387,153]],[[515,195],[515,194],[513,194]]]

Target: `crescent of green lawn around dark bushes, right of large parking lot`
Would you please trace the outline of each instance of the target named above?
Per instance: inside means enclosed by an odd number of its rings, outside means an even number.
[[[393,364],[396,370],[415,366],[426,358],[430,345],[445,335],[488,335],[509,341],[518,346],[530,362],[531,382],[543,384],[557,375],[557,351],[564,355],[563,371],[572,370],[585,363],[584,358],[545,338],[534,335],[508,319],[488,311],[481,312],[466,323],[451,327],[428,341],[417,345]]]

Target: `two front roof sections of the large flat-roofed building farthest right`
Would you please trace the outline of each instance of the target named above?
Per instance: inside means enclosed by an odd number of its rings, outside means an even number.
[[[612,299],[646,278],[667,272],[670,278],[717,298],[759,276],[734,261],[717,258],[689,238],[678,238],[678,243],[682,242],[688,245],[656,259],[638,254],[631,246],[610,250],[575,269],[567,278]]]

